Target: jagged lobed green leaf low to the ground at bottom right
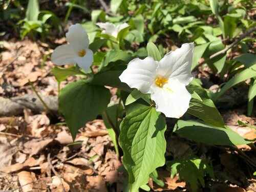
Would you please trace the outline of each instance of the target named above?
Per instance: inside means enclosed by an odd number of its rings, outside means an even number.
[[[179,179],[186,181],[192,191],[197,191],[199,183],[203,187],[205,186],[204,176],[206,174],[211,178],[214,177],[212,166],[206,160],[197,157],[169,161],[166,164],[167,169],[171,172],[171,177],[179,174]]]

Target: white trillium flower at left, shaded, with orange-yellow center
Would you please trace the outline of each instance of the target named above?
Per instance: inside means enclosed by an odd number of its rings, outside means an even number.
[[[86,30],[80,24],[70,26],[66,38],[69,44],[58,46],[52,53],[51,60],[58,66],[77,65],[88,71],[93,62],[93,52],[89,48]]]

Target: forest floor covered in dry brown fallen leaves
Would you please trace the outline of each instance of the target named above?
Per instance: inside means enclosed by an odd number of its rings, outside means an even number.
[[[56,39],[63,44],[65,38]],[[58,95],[58,84],[51,74],[51,46],[29,39],[1,41],[0,98],[23,97],[39,93],[45,98]],[[202,72],[201,75],[204,75]],[[60,88],[77,77],[69,77]],[[115,90],[112,91],[115,97]],[[35,96],[35,99],[38,98]],[[1,106],[0,106],[1,108]],[[1,111],[1,110],[0,110]],[[3,110],[2,110],[3,111]],[[108,136],[103,121],[87,123],[75,143],[63,120],[44,110],[26,107],[0,117],[0,190],[1,191],[123,191],[126,175]],[[247,117],[246,105],[221,111],[225,123],[247,139],[256,138],[255,129],[241,126],[238,120],[256,125]],[[215,179],[206,178],[199,191],[256,191],[256,180],[248,179],[250,163],[256,162],[255,145],[220,147],[196,144],[173,135],[167,152],[175,158],[197,153],[210,158]],[[248,160],[249,158],[249,160]],[[251,162],[248,162],[251,161]],[[255,168],[255,167],[254,167]],[[150,182],[155,191],[187,191],[184,181],[159,169],[165,186]]]

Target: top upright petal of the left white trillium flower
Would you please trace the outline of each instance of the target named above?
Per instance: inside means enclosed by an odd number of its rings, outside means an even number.
[[[66,37],[67,41],[77,53],[89,47],[88,34],[80,24],[70,26],[68,33],[66,33]]]

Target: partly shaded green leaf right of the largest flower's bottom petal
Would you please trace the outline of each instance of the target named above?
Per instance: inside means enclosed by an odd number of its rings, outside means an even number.
[[[214,126],[225,127],[224,120],[214,102],[208,98],[206,91],[199,86],[188,86],[192,94],[187,113]]]

